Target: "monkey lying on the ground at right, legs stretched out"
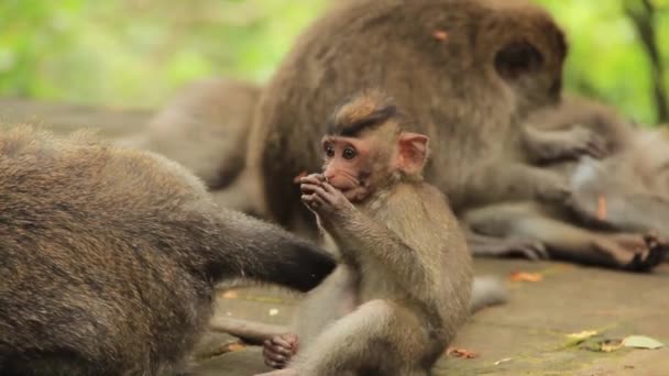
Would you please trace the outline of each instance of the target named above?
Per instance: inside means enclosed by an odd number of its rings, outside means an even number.
[[[599,136],[593,143],[605,157],[545,165],[571,179],[577,204],[507,201],[465,212],[462,220],[478,236],[470,241],[473,253],[550,255],[628,270],[658,265],[669,235],[662,229],[669,219],[667,139],[635,130],[612,109],[575,97],[536,113],[526,126],[533,132],[582,134],[583,140]],[[605,218],[597,220],[602,214]],[[651,235],[651,230],[662,237]]]

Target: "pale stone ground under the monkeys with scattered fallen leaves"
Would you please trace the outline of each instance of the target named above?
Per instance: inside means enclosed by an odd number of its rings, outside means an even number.
[[[0,100],[3,121],[37,121],[59,131],[100,128],[106,136],[142,126],[146,111],[98,110],[58,103]],[[590,340],[647,335],[669,345],[669,264],[652,274],[630,274],[557,262],[476,259],[476,273],[505,280],[509,301],[487,308],[459,332],[452,344],[479,356],[445,355],[435,375],[669,375],[669,347],[604,353],[574,343],[567,334],[597,331]],[[539,281],[512,281],[513,272],[538,273]],[[297,297],[276,289],[219,294],[217,316],[285,323]],[[260,347],[206,333],[193,354],[195,375],[253,375],[267,371]]]

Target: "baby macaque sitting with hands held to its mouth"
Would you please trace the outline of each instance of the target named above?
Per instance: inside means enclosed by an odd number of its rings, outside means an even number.
[[[427,375],[468,318],[471,256],[423,179],[428,137],[407,126],[379,90],[331,118],[322,175],[299,183],[341,264],[304,301],[296,333],[265,342],[266,364],[287,366],[271,374]]]

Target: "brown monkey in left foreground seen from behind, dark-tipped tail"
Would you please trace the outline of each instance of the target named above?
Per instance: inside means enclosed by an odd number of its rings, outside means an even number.
[[[0,132],[0,208],[1,375],[172,374],[216,283],[306,291],[336,265],[162,156],[29,126]]]

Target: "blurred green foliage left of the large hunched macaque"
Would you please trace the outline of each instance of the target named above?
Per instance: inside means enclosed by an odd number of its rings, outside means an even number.
[[[196,78],[264,81],[323,0],[1,0],[0,96],[151,107]]]

